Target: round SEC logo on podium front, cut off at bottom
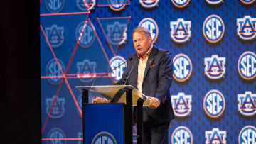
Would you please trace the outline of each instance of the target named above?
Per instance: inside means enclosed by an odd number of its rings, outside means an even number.
[[[101,144],[101,143],[111,143],[117,144],[117,140],[115,140],[114,136],[111,133],[102,131],[95,135],[95,138],[92,140],[92,144]]]

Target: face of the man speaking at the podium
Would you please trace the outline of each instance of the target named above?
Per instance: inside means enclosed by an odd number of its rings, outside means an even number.
[[[138,55],[143,56],[150,48],[152,38],[148,37],[144,32],[134,32],[132,35],[134,48]]]

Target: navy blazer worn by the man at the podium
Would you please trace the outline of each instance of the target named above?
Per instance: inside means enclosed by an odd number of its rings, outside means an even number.
[[[134,54],[129,57],[129,59],[131,58],[132,60],[127,62],[127,69],[122,74],[122,79],[117,84],[129,84],[137,88],[139,57],[137,54]],[[130,75],[129,72],[131,72]],[[147,106],[144,107],[144,122],[160,124],[174,119],[174,111],[171,106],[169,92],[173,78],[172,74],[173,62],[170,52],[161,50],[154,45],[146,62],[142,93],[146,96],[156,97],[161,101],[161,104],[156,109],[151,109]],[[126,81],[127,83],[125,83]]]

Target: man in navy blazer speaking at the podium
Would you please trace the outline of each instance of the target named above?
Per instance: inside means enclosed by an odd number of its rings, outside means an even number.
[[[132,39],[137,54],[129,57],[127,69],[117,84],[132,85],[151,99],[149,106],[143,108],[143,143],[168,143],[169,123],[174,119],[169,93],[173,74],[171,54],[153,45],[147,28],[135,28]],[[92,102],[107,99],[97,97]]]

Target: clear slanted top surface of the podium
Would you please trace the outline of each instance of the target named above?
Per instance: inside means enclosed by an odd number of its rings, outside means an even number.
[[[139,98],[144,100],[143,106],[148,106],[151,101],[148,96],[139,92],[132,85],[102,85],[102,86],[75,86],[82,92],[82,89],[88,91],[91,99],[95,97],[106,98],[108,101],[126,104],[126,88],[132,89],[132,105],[136,106]]]

